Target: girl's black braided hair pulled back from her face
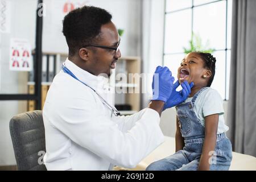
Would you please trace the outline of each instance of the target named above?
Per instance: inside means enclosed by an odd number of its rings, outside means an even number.
[[[203,59],[204,61],[204,67],[209,69],[212,72],[212,76],[210,76],[207,86],[212,85],[212,81],[215,75],[215,63],[216,58],[213,57],[210,53],[204,53],[204,52],[193,52],[196,53]]]

